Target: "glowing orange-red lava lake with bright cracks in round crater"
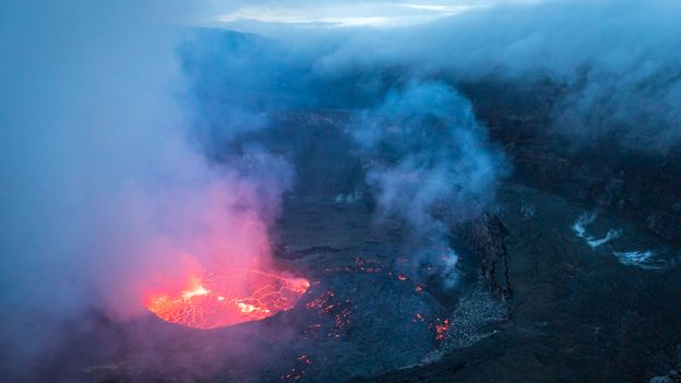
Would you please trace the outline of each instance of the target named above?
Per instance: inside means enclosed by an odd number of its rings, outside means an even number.
[[[291,309],[309,286],[302,278],[228,268],[194,278],[182,291],[154,294],[146,300],[146,307],[166,322],[216,328],[259,321]]]

